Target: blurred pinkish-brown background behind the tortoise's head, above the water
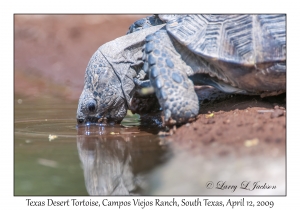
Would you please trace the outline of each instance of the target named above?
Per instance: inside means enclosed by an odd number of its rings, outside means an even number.
[[[78,100],[93,53],[145,16],[15,15],[15,93]]]

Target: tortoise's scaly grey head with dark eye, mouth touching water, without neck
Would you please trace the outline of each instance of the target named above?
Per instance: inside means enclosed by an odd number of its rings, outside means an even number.
[[[128,82],[127,82],[128,83]],[[77,109],[77,123],[120,123],[127,113],[127,92],[134,84],[122,87],[121,77],[100,50],[92,56]]]

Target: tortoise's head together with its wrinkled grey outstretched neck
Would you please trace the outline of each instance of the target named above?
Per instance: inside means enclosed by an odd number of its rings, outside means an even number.
[[[122,121],[135,91],[136,71],[131,66],[141,60],[145,37],[163,26],[117,38],[94,53],[86,68],[84,89],[79,98],[78,124]]]

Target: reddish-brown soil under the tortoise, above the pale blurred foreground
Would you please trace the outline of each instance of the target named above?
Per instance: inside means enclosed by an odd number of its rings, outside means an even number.
[[[285,107],[285,94],[263,99],[233,96],[203,105],[198,119],[177,128],[170,138],[201,154],[211,154],[208,147],[219,145],[214,152],[220,156],[229,152],[227,146],[239,155],[285,155]]]

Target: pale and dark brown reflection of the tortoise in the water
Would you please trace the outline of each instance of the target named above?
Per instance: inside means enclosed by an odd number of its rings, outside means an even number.
[[[147,190],[145,175],[168,157],[167,147],[136,128],[79,126],[77,148],[90,195],[134,195]]]

